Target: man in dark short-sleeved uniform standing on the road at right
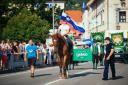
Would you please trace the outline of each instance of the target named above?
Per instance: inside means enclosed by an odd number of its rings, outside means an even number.
[[[115,59],[114,59],[114,45],[110,42],[110,38],[105,38],[105,61],[104,61],[104,73],[102,80],[108,80],[109,65],[111,67],[112,79],[115,79]]]

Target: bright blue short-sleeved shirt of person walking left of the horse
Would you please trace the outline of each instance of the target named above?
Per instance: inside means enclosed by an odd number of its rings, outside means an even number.
[[[28,58],[35,58],[36,57],[36,51],[37,51],[37,46],[36,45],[28,45],[26,47],[27,51],[27,57]]]

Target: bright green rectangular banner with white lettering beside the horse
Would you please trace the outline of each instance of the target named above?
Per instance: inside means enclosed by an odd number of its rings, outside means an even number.
[[[77,48],[73,50],[73,61],[92,61],[90,49]]]

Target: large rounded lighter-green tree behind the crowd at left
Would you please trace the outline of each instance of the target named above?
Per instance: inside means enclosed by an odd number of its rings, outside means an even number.
[[[48,36],[50,24],[41,19],[36,13],[23,9],[18,15],[12,17],[3,30],[3,38],[11,40],[45,41]]]

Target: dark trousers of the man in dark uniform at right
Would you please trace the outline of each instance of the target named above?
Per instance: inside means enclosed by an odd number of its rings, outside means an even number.
[[[112,77],[115,77],[115,60],[114,59],[105,60],[104,65],[105,65],[105,68],[104,68],[103,77],[106,79],[108,78],[109,65],[111,67]]]

